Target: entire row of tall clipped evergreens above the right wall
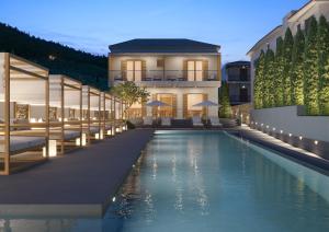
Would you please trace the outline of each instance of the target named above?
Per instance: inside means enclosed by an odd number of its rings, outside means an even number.
[[[313,16],[305,25],[256,60],[254,108],[305,105],[307,115],[329,115],[329,24]]]

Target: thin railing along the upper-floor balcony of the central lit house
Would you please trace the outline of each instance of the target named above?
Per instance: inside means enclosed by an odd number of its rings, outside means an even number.
[[[114,81],[219,81],[217,70],[110,71]]]

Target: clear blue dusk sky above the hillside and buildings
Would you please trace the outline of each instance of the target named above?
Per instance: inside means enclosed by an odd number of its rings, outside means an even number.
[[[48,40],[106,55],[132,38],[191,38],[246,53],[307,0],[1,0],[0,22]]]

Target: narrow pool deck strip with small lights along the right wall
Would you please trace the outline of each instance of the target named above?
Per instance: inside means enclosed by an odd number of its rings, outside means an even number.
[[[304,149],[293,147],[274,137],[263,134],[259,130],[250,129],[249,127],[239,127],[238,129],[228,130],[230,134],[247,139],[256,144],[260,144],[280,152],[281,155],[293,159],[303,165],[306,165],[317,171],[329,174],[329,160],[326,160],[315,153]]]

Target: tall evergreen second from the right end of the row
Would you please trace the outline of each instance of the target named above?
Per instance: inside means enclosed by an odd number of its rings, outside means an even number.
[[[317,31],[317,20],[313,16],[306,33],[304,54],[304,97],[308,115],[319,115]]]

